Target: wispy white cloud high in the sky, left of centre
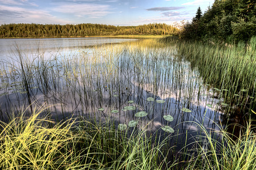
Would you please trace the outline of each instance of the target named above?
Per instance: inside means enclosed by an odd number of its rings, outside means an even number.
[[[89,16],[90,18],[102,18],[110,14],[110,7],[108,5],[98,4],[70,4],[61,5],[52,9],[53,11],[62,12],[65,14],[73,14],[78,17]]]

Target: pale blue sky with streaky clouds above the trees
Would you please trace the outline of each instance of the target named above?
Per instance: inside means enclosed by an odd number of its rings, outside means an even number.
[[[141,25],[191,21],[214,0],[0,0],[0,24]]]

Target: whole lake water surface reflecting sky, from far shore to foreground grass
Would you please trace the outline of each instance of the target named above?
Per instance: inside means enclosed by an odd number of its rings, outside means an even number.
[[[193,142],[196,135],[202,133],[191,121],[208,131],[219,130],[221,121],[225,122],[224,108],[220,106],[224,92],[204,84],[198,71],[191,70],[189,62],[177,58],[172,47],[157,50],[121,44],[92,47],[125,41],[135,40],[0,39],[1,59],[15,56],[15,44],[24,56],[36,54],[38,47],[43,56],[53,56],[51,60],[33,61],[27,65],[27,87],[20,67],[2,66],[1,119],[6,119],[15,109],[45,105],[55,120],[94,117],[113,120],[116,127],[119,124],[128,126],[135,120],[137,128],[170,135],[161,129],[168,125],[174,129],[171,135],[178,136],[171,141],[178,150],[186,138]],[[66,53],[72,57],[65,58]],[[148,114],[136,117],[135,114],[141,111]],[[165,115],[174,120],[166,121]]]

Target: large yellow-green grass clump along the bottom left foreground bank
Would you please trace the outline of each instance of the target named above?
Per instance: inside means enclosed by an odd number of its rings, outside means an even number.
[[[152,144],[145,131],[128,137],[111,122],[56,124],[40,117],[43,108],[33,111],[1,122],[1,169],[161,169],[175,164],[158,159],[165,141]]]

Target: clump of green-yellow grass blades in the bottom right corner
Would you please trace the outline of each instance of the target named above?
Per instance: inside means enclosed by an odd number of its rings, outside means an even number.
[[[191,143],[193,150],[187,169],[255,169],[256,168],[256,133],[251,128],[251,120],[240,127],[238,135],[228,133],[220,127],[220,139],[213,137],[204,126],[193,122],[202,134]]]

